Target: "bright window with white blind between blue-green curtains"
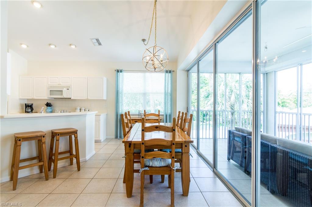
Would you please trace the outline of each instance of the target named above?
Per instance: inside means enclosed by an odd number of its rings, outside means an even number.
[[[164,73],[124,73],[123,109],[137,114],[146,110],[147,113],[163,114]]]

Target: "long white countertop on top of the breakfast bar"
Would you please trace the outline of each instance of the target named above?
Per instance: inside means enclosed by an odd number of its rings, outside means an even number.
[[[97,114],[97,111],[88,112],[65,112],[65,113],[14,113],[0,116],[0,118],[23,118],[23,117],[56,117],[56,116],[78,116]]]

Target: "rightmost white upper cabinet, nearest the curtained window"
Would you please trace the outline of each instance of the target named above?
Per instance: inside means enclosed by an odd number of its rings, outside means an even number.
[[[88,77],[88,99],[106,99],[106,78]]]

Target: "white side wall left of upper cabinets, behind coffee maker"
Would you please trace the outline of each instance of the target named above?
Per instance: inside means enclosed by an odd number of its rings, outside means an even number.
[[[27,60],[9,49],[11,54],[11,90],[8,96],[8,113],[22,113],[27,99],[19,99],[19,76],[27,75]]]

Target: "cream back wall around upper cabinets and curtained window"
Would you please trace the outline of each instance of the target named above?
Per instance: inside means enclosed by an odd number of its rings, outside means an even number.
[[[44,103],[51,102],[72,110],[79,104],[93,111],[107,111],[107,137],[115,137],[115,69],[146,71],[142,62],[65,62],[65,61],[28,61],[28,74],[31,76],[104,76],[107,78],[107,100],[70,100],[70,99],[29,99],[40,110]],[[168,69],[177,70],[175,62],[169,62]],[[173,114],[176,114],[176,80],[173,73]],[[93,104],[94,107],[91,107]],[[71,111],[72,111],[71,110]]]

